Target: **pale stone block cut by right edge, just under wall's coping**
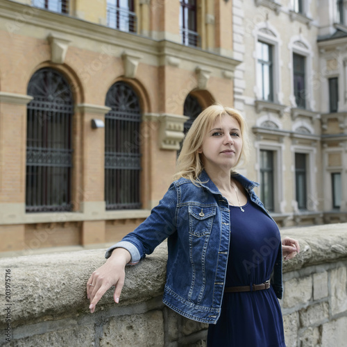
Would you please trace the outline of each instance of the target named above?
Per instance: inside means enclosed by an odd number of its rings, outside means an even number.
[[[347,268],[339,267],[330,271],[330,295],[332,315],[347,311]]]

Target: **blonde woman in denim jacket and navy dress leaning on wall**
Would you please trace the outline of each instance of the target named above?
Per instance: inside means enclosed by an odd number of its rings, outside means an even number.
[[[285,346],[282,254],[276,223],[234,170],[247,154],[246,123],[236,110],[212,105],[192,124],[178,158],[178,178],[134,232],[108,249],[87,282],[90,311],[112,285],[119,302],[126,264],[136,264],[168,237],[163,302],[210,323],[208,346]],[[270,285],[271,282],[271,285]]]

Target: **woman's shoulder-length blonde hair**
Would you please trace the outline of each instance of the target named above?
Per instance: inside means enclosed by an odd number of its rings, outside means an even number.
[[[198,115],[185,136],[177,160],[177,169],[176,174],[174,175],[175,180],[184,177],[192,180],[193,183],[199,183],[198,176],[201,174],[201,171],[203,171],[203,161],[201,154],[198,153],[198,149],[201,148],[208,130],[210,130],[214,122],[223,115],[230,115],[230,117],[234,118],[239,124],[242,138],[242,151],[239,160],[237,160],[237,164],[241,158],[246,160],[248,157],[249,144],[247,136],[248,130],[244,117],[242,117],[239,111],[233,108],[214,104],[203,110],[203,112]],[[231,172],[233,171],[234,168],[232,168]]]

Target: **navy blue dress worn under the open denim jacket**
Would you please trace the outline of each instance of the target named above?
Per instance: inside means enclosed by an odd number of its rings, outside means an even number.
[[[230,251],[226,287],[269,280],[278,253],[276,224],[252,203],[230,206]],[[221,316],[208,328],[208,347],[285,347],[282,313],[275,291],[224,293]]]

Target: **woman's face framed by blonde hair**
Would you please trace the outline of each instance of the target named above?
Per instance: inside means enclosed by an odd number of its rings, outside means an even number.
[[[239,123],[230,115],[223,115],[212,124],[199,149],[205,169],[232,169],[242,152]]]

